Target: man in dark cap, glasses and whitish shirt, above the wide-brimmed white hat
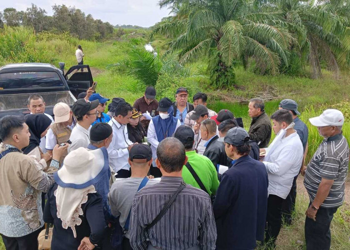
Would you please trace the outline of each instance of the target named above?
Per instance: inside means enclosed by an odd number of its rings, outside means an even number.
[[[68,153],[79,147],[87,147],[90,144],[91,124],[96,120],[98,100],[78,99],[74,102],[71,110],[76,118],[76,125],[71,130]]]

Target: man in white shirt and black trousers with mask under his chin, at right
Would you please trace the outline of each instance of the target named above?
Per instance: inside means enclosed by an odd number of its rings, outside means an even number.
[[[267,148],[261,148],[260,152],[266,153],[262,162],[268,175],[265,242],[274,249],[281,226],[282,202],[290,191],[293,178],[300,170],[303,147],[288,110],[279,109],[270,118],[276,137]]]

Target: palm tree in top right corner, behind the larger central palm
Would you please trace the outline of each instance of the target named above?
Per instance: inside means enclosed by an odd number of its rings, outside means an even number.
[[[346,64],[350,49],[350,35],[346,17],[336,14],[330,4],[316,5],[314,0],[259,1],[270,11],[280,11],[289,31],[297,38],[300,55],[308,61],[311,78],[321,77],[320,60],[337,77],[339,65]]]

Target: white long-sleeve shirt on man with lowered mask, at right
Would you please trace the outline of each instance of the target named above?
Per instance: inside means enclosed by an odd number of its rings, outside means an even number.
[[[299,135],[293,132],[287,137],[276,136],[265,150],[262,162],[268,175],[268,194],[285,199],[301,167],[303,147]]]

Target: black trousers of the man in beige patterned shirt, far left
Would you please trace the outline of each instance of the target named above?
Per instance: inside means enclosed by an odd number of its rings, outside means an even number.
[[[37,236],[44,227],[21,237],[7,237],[2,235],[2,241],[6,250],[37,250]]]

